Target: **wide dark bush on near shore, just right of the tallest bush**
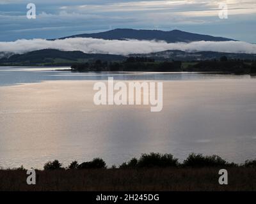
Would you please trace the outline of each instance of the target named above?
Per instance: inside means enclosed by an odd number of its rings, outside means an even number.
[[[189,167],[205,167],[205,166],[232,166],[232,164],[227,163],[221,157],[213,156],[203,156],[202,154],[189,154],[188,158],[183,162],[182,166]]]

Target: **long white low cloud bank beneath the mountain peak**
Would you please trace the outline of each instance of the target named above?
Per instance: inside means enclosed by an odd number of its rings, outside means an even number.
[[[33,50],[54,48],[64,51],[80,50],[98,54],[147,54],[164,50],[182,50],[187,52],[214,51],[256,54],[256,45],[243,41],[194,41],[191,43],[166,43],[165,41],[145,40],[102,40],[94,38],[67,38],[64,40],[17,40],[0,42],[0,52],[22,54]]]

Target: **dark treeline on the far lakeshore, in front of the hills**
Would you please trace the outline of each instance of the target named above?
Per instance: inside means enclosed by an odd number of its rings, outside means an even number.
[[[147,57],[128,57],[122,62],[93,61],[83,64],[74,64],[72,71],[200,71],[200,72],[224,72],[236,74],[255,74],[256,62],[241,59],[228,59],[223,56],[219,60],[186,62],[188,66],[182,66],[181,61],[156,62]]]

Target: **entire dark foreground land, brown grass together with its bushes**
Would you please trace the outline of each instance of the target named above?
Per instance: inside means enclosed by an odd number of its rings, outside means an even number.
[[[221,168],[228,185],[218,183]],[[0,170],[0,191],[256,191],[256,160],[228,163],[219,156],[190,154],[183,163],[172,154],[142,154],[107,168],[95,158],[66,168],[58,161],[36,170],[36,185],[26,184],[24,168]]]

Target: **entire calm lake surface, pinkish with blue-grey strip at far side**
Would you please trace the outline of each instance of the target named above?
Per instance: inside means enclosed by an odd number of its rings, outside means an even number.
[[[42,168],[59,159],[121,164],[141,153],[256,158],[256,80],[202,73],[71,73],[0,67],[0,166]],[[67,69],[67,68],[61,68]],[[163,110],[95,106],[99,80],[163,81]],[[25,85],[24,85],[25,84]]]

